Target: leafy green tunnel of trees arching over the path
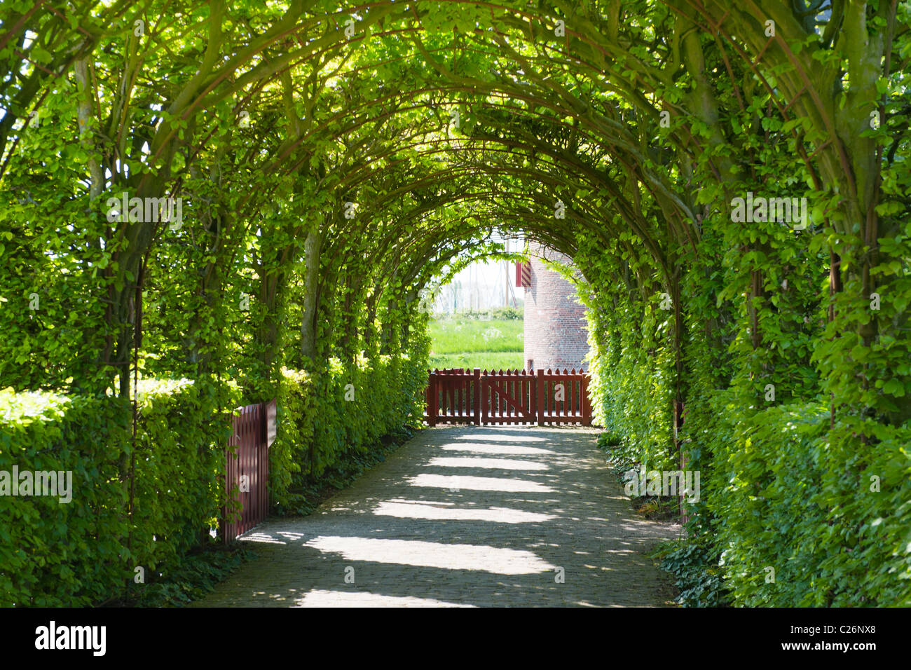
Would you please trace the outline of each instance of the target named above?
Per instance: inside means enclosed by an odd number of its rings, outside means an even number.
[[[12,406],[110,398],[126,426],[140,377],[195,380],[203,415],[278,396],[292,505],[417,416],[422,290],[521,234],[584,278],[617,453],[702,472],[686,593],[908,602],[907,4],[262,5],[5,3]],[[802,224],[770,216],[785,198]],[[202,423],[184,441],[217,443]],[[107,455],[123,482],[136,431]]]

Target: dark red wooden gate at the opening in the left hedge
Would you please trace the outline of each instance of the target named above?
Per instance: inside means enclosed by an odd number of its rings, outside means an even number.
[[[275,439],[275,401],[247,405],[238,411],[232,419],[230,445],[225,449],[229,502],[222,510],[220,528],[226,544],[269,513],[269,447]],[[232,447],[236,447],[233,453]]]

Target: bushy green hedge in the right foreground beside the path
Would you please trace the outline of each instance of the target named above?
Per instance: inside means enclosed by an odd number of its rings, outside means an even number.
[[[712,445],[705,499],[738,604],[911,604],[911,428],[870,448],[830,420],[820,403],[770,407]]]

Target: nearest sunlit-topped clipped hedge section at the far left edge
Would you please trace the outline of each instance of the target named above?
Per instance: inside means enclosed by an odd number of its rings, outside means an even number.
[[[105,600],[126,577],[130,428],[118,398],[0,391],[0,470],[72,472],[72,500],[0,495],[0,606]]]

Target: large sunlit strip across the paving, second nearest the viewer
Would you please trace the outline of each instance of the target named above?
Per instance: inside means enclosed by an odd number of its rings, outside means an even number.
[[[531,551],[489,545],[320,536],[306,542],[306,546],[327,553],[340,553],[346,561],[398,563],[442,570],[530,574],[554,569],[553,565],[542,561]]]

